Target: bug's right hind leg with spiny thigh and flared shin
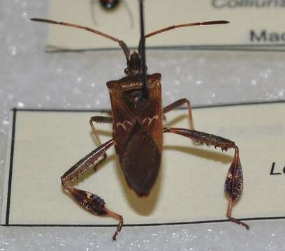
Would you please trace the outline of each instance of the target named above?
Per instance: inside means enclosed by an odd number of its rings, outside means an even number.
[[[240,164],[238,146],[235,145],[235,142],[205,132],[198,132],[196,130],[188,130],[182,128],[163,128],[163,132],[172,132],[178,135],[182,135],[184,137],[189,137],[193,141],[198,142],[200,144],[207,144],[207,146],[211,145],[214,146],[215,148],[220,147],[222,150],[225,151],[227,151],[228,149],[235,149],[233,162],[231,163],[231,167],[228,170],[228,174],[226,176],[226,181],[224,185],[224,190],[228,195],[228,210],[226,216],[228,217],[228,220],[231,220],[232,222],[235,222],[239,225],[242,225],[246,229],[249,229],[249,226],[247,224],[231,217],[233,204],[242,194],[242,183],[243,183],[242,165]]]

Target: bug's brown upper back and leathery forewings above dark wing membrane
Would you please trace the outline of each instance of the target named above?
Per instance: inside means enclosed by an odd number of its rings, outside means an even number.
[[[147,100],[141,99],[141,76],[124,77],[107,83],[112,105],[114,139],[117,146],[124,145],[136,123],[151,136],[161,149],[162,105],[161,75],[147,76]],[[116,147],[117,148],[117,147]]]

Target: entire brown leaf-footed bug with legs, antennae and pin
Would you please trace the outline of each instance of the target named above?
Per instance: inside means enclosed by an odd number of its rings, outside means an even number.
[[[198,25],[226,24],[228,21],[219,20],[173,25],[144,35],[143,8],[142,0],[140,0],[141,38],[138,45],[138,52],[131,53],[129,47],[127,47],[122,40],[89,27],[41,18],[32,18],[31,20],[71,26],[96,33],[97,35],[119,43],[119,46],[126,56],[127,67],[124,70],[126,76],[119,80],[107,82],[112,115],[92,116],[89,121],[98,147],[79,160],[61,176],[61,183],[64,188],[73,195],[75,200],[78,201],[83,208],[96,215],[108,215],[119,221],[117,230],[112,236],[113,241],[116,240],[117,234],[122,229],[122,215],[110,211],[105,201],[101,199],[101,197],[98,197],[98,195],[74,188],[72,182],[78,178],[80,174],[87,171],[87,169],[105,160],[105,158],[107,158],[106,151],[110,149],[111,146],[115,146],[115,151],[119,157],[119,163],[129,188],[133,189],[139,197],[149,195],[156,181],[157,174],[159,173],[163,132],[182,135],[192,139],[193,142],[211,145],[216,148],[219,147],[222,150],[234,149],[233,161],[228,170],[224,185],[224,190],[228,195],[228,210],[226,215],[229,220],[249,229],[247,224],[231,216],[233,205],[242,193],[242,166],[240,164],[238,146],[229,139],[193,130],[191,105],[186,98],[177,100],[162,108],[161,74],[154,73],[152,75],[146,75],[145,73],[145,38],[171,29]],[[190,129],[163,127],[164,114],[182,105],[187,105]],[[94,123],[112,123],[112,139],[101,144]]]

